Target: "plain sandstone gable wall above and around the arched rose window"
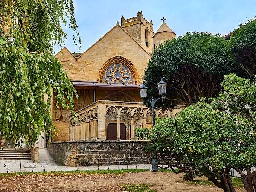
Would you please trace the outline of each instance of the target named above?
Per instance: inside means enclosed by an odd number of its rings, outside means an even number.
[[[138,73],[136,82],[141,83],[144,69],[151,55],[125,33],[119,25],[111,29],[79,58],[74,58],[66,48],[57,53],[55,57],[61,61],[63,69],[70,79],[98,81],[99,71],[105,62],[118,55],[128,59],[133,64],[134,70],[137,70]]]

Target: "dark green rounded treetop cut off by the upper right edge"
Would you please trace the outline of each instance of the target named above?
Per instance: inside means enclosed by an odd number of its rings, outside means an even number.
[[[230,55],[244,69],[247,78],[255,82],[256,77],[256,19],[242,23],[229,39]]]

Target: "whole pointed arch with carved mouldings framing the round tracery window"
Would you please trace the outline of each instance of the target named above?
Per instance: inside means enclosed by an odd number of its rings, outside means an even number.
[[[116,56],[108,59],[102,66],[99,71],[98,82],[139,84],[139,75],[131,61]]]

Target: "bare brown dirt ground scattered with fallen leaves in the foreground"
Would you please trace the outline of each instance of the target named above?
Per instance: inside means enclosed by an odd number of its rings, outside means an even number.
[[[125,183],[151,184],[157,192],[223,192],[215,186],[197,186],[182,182],[183,174],[169,172],[133,172],[120,175],[72,174],[72,175],[16,175],[0,179],[0,192],[125,192]],[[198,177],[197,180],[207,180]],[[245,192],[237,189],[237,192]]]

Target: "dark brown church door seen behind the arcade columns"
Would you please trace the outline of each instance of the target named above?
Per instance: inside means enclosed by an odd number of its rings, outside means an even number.
[[[120,137],[121,140],[126,140],[126,127],[125,124],[120,124]],[[116,140],[117,139],[117,124],[110,123],[107,128],[107,140]]]

